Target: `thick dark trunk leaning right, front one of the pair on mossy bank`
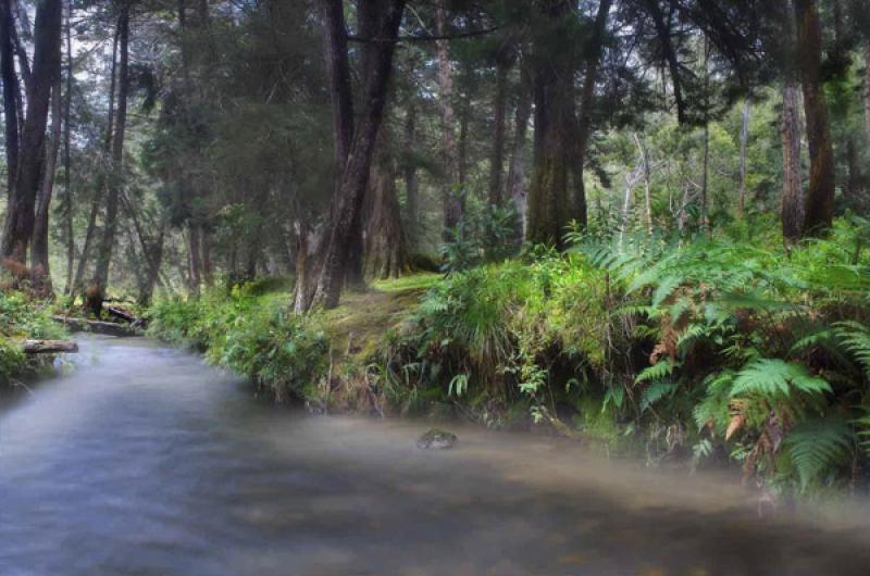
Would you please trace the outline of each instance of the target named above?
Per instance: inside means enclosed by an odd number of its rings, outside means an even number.
[[[341,3],[340,0],[331,1],[338,2],[339,5]],[[385,4],[378,34],[378,39],[382,41],[372,48],[371,73],[366,78],[365,95],[362,100],[364,108],[360,114],[360,123],[353,130],[353,140],[341,176],[339,193],[334,197],[331,210],[331,226],[326,233],[327,248],[312,299],[313,306],[331,309],[338,305],[352,225],[355,218],[359,217],[369,184],[369,172],[384,116],[389,76],[393,72],[396,39],[405,12],[405,0],[389,0]],[[334,25],[335,23],[327,23],[327,27]]]

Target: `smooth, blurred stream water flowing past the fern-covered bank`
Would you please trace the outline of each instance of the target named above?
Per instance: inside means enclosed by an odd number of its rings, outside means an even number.
[[[732,479],[576,446],[277,409],[190,354],[86,338],[0,409],[0,574],[861,575],[863,512],[759,519]],[[836,518],[835,518],[836,519]]]

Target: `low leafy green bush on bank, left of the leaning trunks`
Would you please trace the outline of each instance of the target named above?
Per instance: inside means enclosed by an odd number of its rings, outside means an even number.
[[[278,402],[304,398],[328,368],[328,340],[315,317],[287,312],[286,292],[260,292],[250,285],[159,301],[149,311],[148,334],[206,352]]]

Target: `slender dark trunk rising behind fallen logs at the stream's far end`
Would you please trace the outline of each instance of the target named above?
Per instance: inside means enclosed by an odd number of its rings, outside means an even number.
[[[109,284],[109,270],[112,264],[115,237],[117,235],[117,208],[124,188],[124,137],[127,126],[127,93],[129,91],[129,4],[121,7],[117,20],[119,65],[117,65],[117,116],[112,139],[112,166],[105,195],[105,221],[103,235],[97,251],[97,266],[94,285],[99,298],[91,298],[89,308],[99,312]]]

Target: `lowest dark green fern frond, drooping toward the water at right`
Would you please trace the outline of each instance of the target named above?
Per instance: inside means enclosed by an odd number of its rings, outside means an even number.
[[[822,478],[825,473],[852,456],[854,436],[840,418],[812,420],[795,426],[783,447],[797,469],[800,489]]]

